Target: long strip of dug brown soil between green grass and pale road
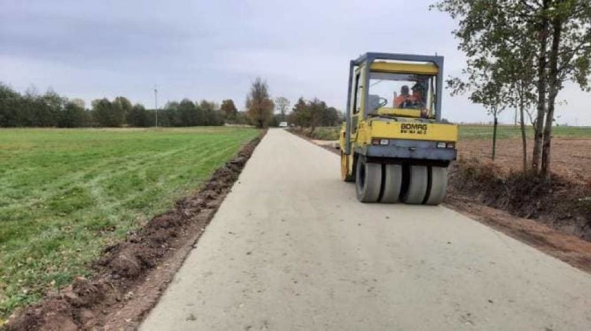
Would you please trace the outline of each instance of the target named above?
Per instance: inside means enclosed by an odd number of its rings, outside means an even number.
[[[76,278],[41,303],[15,312],[8,330],[127,330],[157,303],[266,132],[214,172],[191,197],[108,247],[91,279]]]

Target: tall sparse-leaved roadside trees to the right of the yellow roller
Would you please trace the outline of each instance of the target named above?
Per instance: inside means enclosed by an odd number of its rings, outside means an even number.
[[[468,57],[453,93],[470,93],[497,118],[520,112],[523,171],[550,178],[552,124],[565,82],[590,91],[591,1],[443,0],[431,8],[459,22],[454,35]],[[526,121],[534,141],[528,162]]]

